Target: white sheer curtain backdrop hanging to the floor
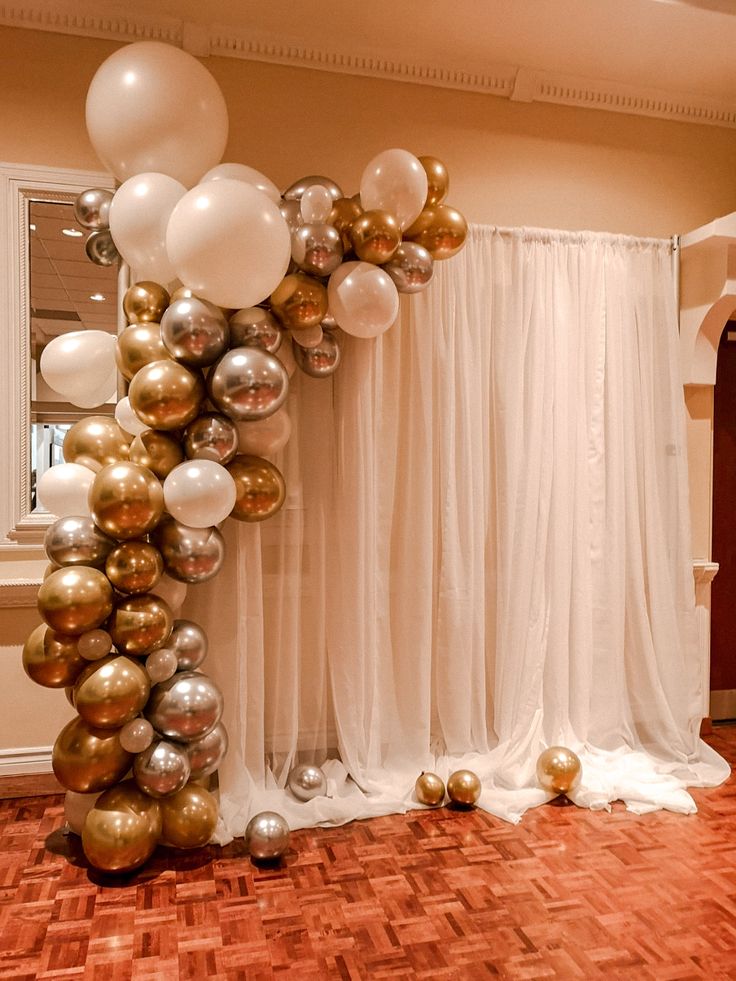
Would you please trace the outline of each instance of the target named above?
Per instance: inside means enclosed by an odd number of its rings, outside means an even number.
[[[468,766],[480,806],[692,812],[728,774],[698,736],[683,398],[668,242],[473,227],[332,380],[292,380],[288,500],[227,523],[191,588],[231,748],[218,840],[418,806]],[[299,761],[329,796],[285,790]]]

